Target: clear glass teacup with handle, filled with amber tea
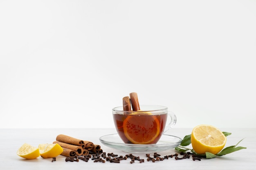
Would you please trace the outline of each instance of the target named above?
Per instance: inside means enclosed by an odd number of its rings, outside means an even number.
[[[117,133],[126,144],[156,144],[177,120],[167,107],[157,105],[141,105],[138,111],[115,107],[112,116]],[[168,116],[171,120],[166,124]]]

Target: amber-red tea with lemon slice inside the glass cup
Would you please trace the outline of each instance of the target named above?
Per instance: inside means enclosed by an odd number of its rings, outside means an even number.
[[[156,144],[166,125],[168,114],[113,114],[117,133],[127,144]]]

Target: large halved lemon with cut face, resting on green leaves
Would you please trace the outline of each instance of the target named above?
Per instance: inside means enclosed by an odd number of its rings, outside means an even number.
[[[222,131],[211,125],[195,126],[191,133],[191,144],[198,154],[209,152],[216,155],[224,148],[226,141],[227,138]]]

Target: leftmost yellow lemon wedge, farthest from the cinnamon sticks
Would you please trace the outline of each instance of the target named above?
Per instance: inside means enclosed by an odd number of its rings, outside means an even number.
[[[36,159],[40,153],[38,148],[25,143],[18,149],[17,155],[25,159]]]

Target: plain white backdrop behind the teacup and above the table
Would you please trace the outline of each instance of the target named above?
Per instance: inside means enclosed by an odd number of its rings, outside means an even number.
[[[0,0],[0,128],[113,128],[130,92],[255,128],[255,58],[255,0]]]

